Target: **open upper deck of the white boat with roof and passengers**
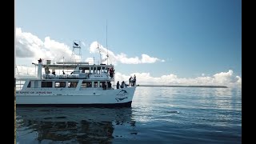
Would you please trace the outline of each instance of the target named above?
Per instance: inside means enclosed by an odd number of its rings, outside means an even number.
[[[114,81],[114,66],[89,64],[89,62],[54,62],[41,60],[38,64],[38,78],[42,79],[100,79]],[[42,68],[44,71],[42,72]],[[56,70],[62,70],[56,74]],[[40,74],[41,73],[41,74]],[[42,76],[41,76],[42,75]]]

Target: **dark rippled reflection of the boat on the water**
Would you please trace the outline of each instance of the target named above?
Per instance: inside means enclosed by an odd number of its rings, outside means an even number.
[[[18,143],[109,143],[122,133],[115,128],[137,134],[131,107],[19,107],[16,119]]]

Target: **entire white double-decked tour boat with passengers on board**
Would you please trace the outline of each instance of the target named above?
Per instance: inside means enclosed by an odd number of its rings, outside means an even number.
[[[17,106],[131,106],[135,86],[117,88],[114,66],[38,60],[37,78],[16,79]],[[42,73],[44,68],[44,73]],[[112,69],[112,71],[111,71]],[[63,70],[65,74],[54,74]]]

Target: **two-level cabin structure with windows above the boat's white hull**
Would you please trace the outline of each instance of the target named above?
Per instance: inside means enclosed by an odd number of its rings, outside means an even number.
[[[27,89],[113,89],[114,66],[112,65],[89,65],[88,62],[57,62],[50,64],[49,61],[38,64],[38,78],[26,79],[22,83],[22,90]],[[42,68],[44,73],[42,74]],[[56,70],[62,70],[62,74],[56,74]],[[113,70],[113,71],[111,71]],[[50,71],[52,71],[50,73]]]

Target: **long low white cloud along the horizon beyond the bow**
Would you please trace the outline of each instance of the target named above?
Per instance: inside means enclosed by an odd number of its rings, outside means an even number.
[[[201,76],[197,78],[178,78],[175,74],[162,75],[161,77],[152,77],[150,73],[133,73],[124,75],[115,74],[116,81],[128,82],[130,76],[136,74],[137,84],[140,85],[177,85],[177,86],[241,86],[242,78],[235,76],[232,70],[221,72],[210,76]]]

